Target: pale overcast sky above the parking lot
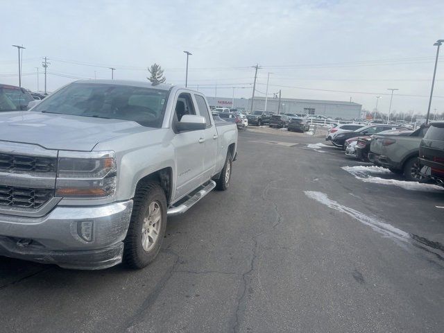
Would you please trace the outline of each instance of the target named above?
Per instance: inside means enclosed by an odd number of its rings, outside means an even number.
[[[146,80],[146,67],[164,68],[167,83],[207,96],[257,96],[361,103],[388,111],[387,88],[398,88],[393,109],[424,113],[436,46],[444,39],[444,4],[436,1],[1,1],[0,83],[37,89],[42,57],[53,91],[76,78]],[[444,112],[444,48],[438,62],[434,108]],[[83,65],[80,65],[83,64]],[[94,72],[95,71],[95,72]],[[40,75],[40,90],[44,77]],[[327,91],[325,91],[327,90]]]

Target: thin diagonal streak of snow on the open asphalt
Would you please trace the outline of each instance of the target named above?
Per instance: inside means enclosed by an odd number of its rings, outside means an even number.
[[[379,221],[378,219],[375,219],[373,217],[367,216],[366,214],[358,212],[357,210],[354,210],[350,207],[345,207],[343,205],[340,205],[336,201],[328,198],[327,194],[325,193],[318,191],[304,191],[304,193],[309,198],[318,201],[318,203],[322,203],[327,207],[330,207],[334,210],[352,216],[352,218],[357,219],[359,222],[365,225],[368,225],[370,228],[372,228],[376,232],[379,232],[380,234],[383,234],[385,237],[391,237],[396,241],[403,241],[403,242],[410,240],[409,233],[404,232],[398,228],[395,228],[393,227],[393,225],[390,225],[383,221]]]

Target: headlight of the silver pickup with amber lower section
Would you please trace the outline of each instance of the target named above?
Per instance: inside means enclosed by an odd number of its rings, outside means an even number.
[[[117,187],[113,151],[91,153],[60,151],[56,196],[64,198],[108,198]]]

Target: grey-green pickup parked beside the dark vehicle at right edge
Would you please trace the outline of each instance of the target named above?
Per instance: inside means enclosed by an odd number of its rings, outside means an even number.
[[[418,180],[419,146],[428,126],[421,126],[410,135],[373,135],[368,160],[393,173],[404,174],[406,180]]]

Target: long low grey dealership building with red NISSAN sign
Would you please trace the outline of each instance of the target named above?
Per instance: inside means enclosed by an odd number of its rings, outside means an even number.
[[[210,106],[216,108],[242,108],[250,111],[251,99],[230,99],[223,97],[207,97]],[[320,101],[315,99],[281,99],[280,113],[323,115],[330,118],[355,119],[361,118],[362,105],[354,102]],[[266,110],[278,113],[279,99],[268,99]],[[265,110],[265,98],[255,97],[253,111]]]

